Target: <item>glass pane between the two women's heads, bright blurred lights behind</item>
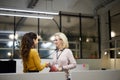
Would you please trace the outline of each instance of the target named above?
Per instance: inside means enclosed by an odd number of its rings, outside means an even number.
[[[41,58],[52,58],[52,53],[56,49],[50,38],[54,33],[59,32],[58,19],[54,17],[53,20],[40,20],[42,40],[39,42],[39,53]]]

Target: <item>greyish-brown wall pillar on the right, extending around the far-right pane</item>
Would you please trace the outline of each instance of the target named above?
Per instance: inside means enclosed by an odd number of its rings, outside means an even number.
[[[114,0],[112,3],[100,8],[97,13],[100,15],[100,29],[101,29],[101,67],[107,69],[120,69],[120,59],[110,58],[109,54],[104,55],[105,49],[109,48],[109,26],[108,26],[108,11],[111,12],[120,10],[120,0]]]

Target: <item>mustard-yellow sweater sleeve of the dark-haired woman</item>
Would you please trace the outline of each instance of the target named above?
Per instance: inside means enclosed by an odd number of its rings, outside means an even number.
[[[40,59],[39,54],[38,54],[36,49],[33,50],[33,53],[34,53],[33,54],[33,60],[34,60],[36,68],[39,71],[43,70],[46,66],[46,63],[44,63],[44,64],[41,63],[41,59]]]

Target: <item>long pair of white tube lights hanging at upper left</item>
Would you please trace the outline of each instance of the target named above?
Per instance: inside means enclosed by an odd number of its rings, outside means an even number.
[[[58,15],[58,13],[33,11],[33,10],[0,8],[0,15],[3,15],[3,16],[17,16],[17,17],[29,17],[29,18],[42,18],[42,19],[53,19],[53,16]]]

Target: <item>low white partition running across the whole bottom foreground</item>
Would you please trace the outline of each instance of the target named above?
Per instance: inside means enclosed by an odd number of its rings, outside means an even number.
[[[120,70],[84,70],[72,72],[71,80],[120,80]],[[0,80],[66,80],[64,72],[0,74]]]

